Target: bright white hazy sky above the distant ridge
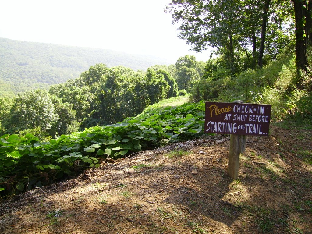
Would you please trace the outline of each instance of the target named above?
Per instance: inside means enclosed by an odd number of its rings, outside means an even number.
[[[169,0],[0,0],[0,37],[112,49],[164,57],[175,63],[194,53],[163,12]]]

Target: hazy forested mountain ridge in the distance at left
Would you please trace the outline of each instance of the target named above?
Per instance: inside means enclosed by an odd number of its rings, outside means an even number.
[[[121,65],[134,71],[170,64],[156,56],[0,38],[0,96],[46,89],[78,77],[97,63],[108,67]]]

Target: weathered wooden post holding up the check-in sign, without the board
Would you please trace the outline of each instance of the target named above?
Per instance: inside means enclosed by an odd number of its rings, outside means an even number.
[[[243,103],[244,101],[235,100],[234,103]],[[239,156],[246,149],[246,135],[230,136],[229,164],[227,167],[227,175],[233,180],[238,179]]]

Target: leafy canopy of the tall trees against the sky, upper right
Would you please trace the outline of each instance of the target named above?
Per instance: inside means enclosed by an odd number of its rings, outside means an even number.
[[[289,1],[172,0],[165,12],[180,23],[179,37],[194,51],[216,48],[232,74],[241,71],[245,56],[248,66],[258,58],[261,67],[266,50],[280,43],[277,48],[284,47],[290,38],[285,27],[292,19]]]

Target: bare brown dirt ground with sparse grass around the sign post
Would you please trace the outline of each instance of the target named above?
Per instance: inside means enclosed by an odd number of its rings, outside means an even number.
[[[228,135],[102,164],[2,201],[0,233],[312,233],[311,136],[248,136],[236,181]]]

